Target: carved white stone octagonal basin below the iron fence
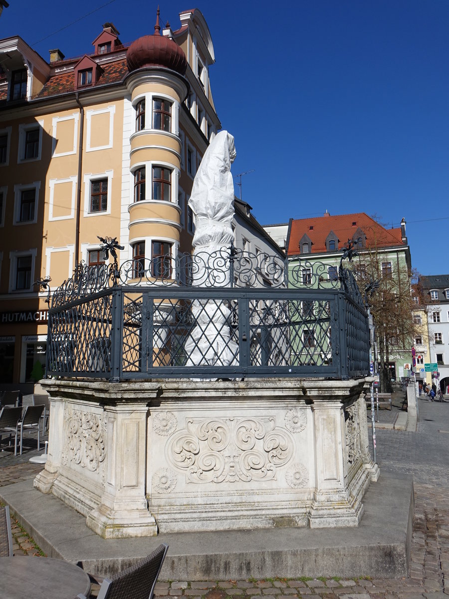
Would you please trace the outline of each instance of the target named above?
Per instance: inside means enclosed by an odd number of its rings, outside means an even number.
[[[107,538],[356,526],[378,476],[365,380],[49,380],[35,486]]]

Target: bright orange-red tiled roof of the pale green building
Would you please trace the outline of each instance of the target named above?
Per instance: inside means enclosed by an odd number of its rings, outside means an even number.
[[[353,224],[355,223],[355,225]],[[313,254],[326,252],[326,238],[333,231],[338,238],[338,249],[352,239],[357,229],[362,229],[366,235],[366,247],[393,247],[404,245],[401,228],[385,229],[364,212],[356,214],[339,214],[330,216],[329,213],[314,219],[292,220],[289,247],[287,255],[296,256],[300,253],[299,243],[303,235],[308,235],[312,242]]]

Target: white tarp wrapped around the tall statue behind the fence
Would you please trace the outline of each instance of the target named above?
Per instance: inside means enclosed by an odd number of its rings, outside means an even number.
[[[235,156],[234,138],[221,131],[206,150],[193,181],[189,207],[195,214],[192,242],[195,286],[229,286],[227,257],[233,241],[234,216],[230,165]],[[219,299],[197,299],[192,313],[196,325],[185,344],[187,365],[236,364],[238,345],[230,340],[230,310],[226,303]]]

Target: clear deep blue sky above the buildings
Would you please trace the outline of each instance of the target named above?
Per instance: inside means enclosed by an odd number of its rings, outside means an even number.
[[[67,58],[89,52],[106,21],[124,43],[151,33],[157,8],[8,1],[0,36],[20,35],[45,59],[56,47]],[[259,222],[325,210],[389,226],[405,217],[412,265],[449,273],[448,0],[159,4],[174,29],[195,5],[208,22],[217,113],[235,137],[233,174],[253,170],[242,199]]]

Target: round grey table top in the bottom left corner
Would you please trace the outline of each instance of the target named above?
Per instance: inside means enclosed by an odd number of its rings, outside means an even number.
[[[2,599],[73,599],[90,594],[90,580],[84,570],[62,559],[17,555],[0,558]]]

